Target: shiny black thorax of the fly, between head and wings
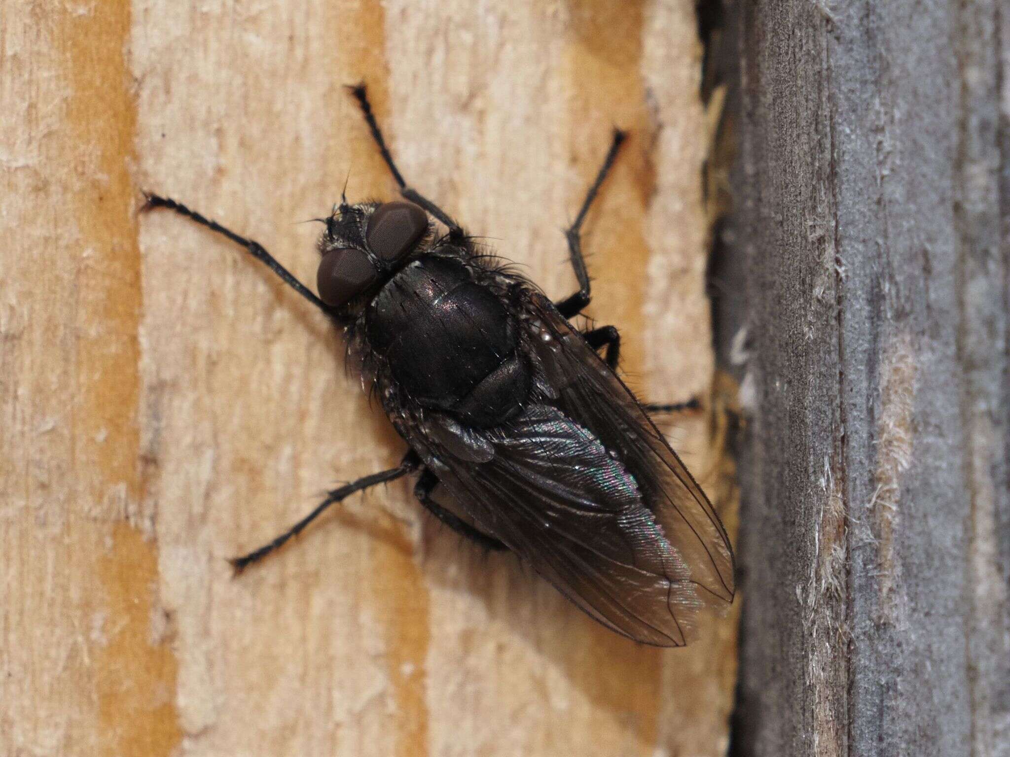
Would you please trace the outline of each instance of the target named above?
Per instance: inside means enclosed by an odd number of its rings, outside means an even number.
[[[453,259],[422,258],[394,277],[370,307],[367,333],[413,400],[474,426],[505,420],[528,394],[514,321]]]

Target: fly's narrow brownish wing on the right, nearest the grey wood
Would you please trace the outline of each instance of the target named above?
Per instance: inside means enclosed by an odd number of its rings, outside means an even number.
[[[617,453],[641,490],[667,542],[690,570],[705,604],[730,603],[735,591],[729,537],[705,493],[631,391],[537,292],[526,301],[531,342],[559,393],[557,406]]]

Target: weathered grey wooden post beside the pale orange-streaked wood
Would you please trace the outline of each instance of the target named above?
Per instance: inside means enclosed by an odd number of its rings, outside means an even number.
[[[1006,5],[739,12],[734,754],[1010,754]]]

